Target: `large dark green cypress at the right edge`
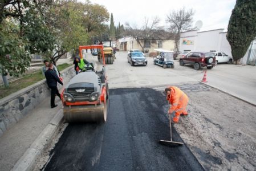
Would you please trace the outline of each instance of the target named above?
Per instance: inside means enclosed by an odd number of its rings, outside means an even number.
[[[256,36],[255,0],[237,0],[227,27],[227,40],[235,63],[243,58]]]

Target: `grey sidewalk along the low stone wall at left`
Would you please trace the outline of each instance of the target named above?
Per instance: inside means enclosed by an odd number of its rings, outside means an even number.
[[[0,170],[11,170],[56,113],[62,112],[58,97],[55,98],[55,103],[58,107],[52,109],[48,97],[0,137]]]

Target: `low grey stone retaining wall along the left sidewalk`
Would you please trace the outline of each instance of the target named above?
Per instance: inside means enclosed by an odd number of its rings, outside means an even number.
[[[66,68],[61,73],[64,83],[69,82],[75,75],[74,66]],[[58,86],[61,87],[60,85]],[[0,136],[48,96],[50,96],[50,89],[46,84],[46,79],[44,79],[1,99]]]

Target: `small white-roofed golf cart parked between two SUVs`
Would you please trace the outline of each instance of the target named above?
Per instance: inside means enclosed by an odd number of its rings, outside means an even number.
[[[155,65],[163,68],[174,68],[173,51],[157,49],[156,52],[159,55],[153,58],[153,63]]]

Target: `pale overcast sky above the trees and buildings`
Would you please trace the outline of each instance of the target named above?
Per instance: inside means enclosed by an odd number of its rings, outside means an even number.
[[[83,0],[80,0],[83,2]],[[158,16],[161,19],[161,26],[167,26],[166,15],[171,10],[178,10],[182,7],[193,9],[193,25],[196,21],[202,21],[201,31],[217,28],[227,28],[231,11],[234,9],[235,0],[90,0],[107,8],[109,14],[113,13],[115,25],[128,22],[132,26],[141,27],[144,18]]]

